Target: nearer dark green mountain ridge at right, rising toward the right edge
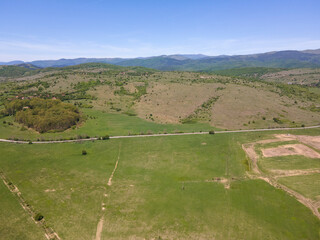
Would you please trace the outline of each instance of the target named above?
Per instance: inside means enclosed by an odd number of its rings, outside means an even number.
[[[144,66],[159,70],[215,71],[230,68],[304,68],[320,67],[320,55],[300,51],[280,51],[253,55],[217,56],[200,59],[176,59],[168,56],[129,59],[121,66]]]

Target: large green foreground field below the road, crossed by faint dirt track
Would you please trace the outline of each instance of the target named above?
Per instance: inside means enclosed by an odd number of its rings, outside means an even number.
[[[62,239],[94,239],[101,216],[101,239],[319,239],[320,221],[308,208],[246,177],[241,144],[268,137],[241,133],[2,143],[0,168]],[[113,184],[107,186],[118,156]],[[230,188],[207,182],[216,177],[227,179]],[[17,227],[25,224],[17,222]]]

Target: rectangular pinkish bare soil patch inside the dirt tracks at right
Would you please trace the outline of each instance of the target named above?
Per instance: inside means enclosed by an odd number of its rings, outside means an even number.
[[[288,144],[275,148],[261,149],[264,157],[302,155],[309,158],[320,158],[320,154],[303,144]]]

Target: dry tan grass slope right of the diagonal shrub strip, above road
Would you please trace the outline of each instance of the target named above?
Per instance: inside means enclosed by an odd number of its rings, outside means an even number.
[[[273,118],[278,118],[277,123]],[[212,109],[212,124],[246,129],[317,124],[320,113],[309,112],[292,99],[259,88],[228,84]]]

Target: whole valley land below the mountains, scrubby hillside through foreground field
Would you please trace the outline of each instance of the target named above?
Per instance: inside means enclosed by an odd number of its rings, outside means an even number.
[[[1,235],[317,239],[320,94],[264,76],[90,63],[5,77],[1,201],[18,207]],[[40,133],[9,111],[38,98],[80,121]]]

